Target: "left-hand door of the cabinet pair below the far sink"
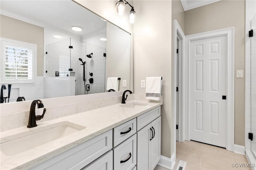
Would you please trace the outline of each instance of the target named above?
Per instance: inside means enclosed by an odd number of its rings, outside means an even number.
[[[150,124],[137,132],[137,170],[150,170]]]

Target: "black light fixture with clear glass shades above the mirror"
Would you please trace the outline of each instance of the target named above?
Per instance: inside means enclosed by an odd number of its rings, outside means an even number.
[[[134,22],[136,22],[135,11],[134,11],[133,6],[131,6],[131,5],[129,4],[129,2],[127,2],[126,0],[119,0],[119,1],[116,3],[116,15],[118,15],[118,16],[124,16],[124,15],[126,15],[125,4],[128,4],[128,5],[131,7],[130,16],[129,16],[129,22],[130,22],[131,24],[134,24]]]

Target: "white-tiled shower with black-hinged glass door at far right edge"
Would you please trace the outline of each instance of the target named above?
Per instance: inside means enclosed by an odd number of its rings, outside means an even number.
[[[246,0],[245,149],[256,162],[256,0]],[[252,167],[255,170],[255,167]]]

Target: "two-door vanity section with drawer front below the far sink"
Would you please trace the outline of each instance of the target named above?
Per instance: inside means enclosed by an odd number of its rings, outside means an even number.
[[[160,113],[160,107],[149,112],[152,113],[152,115],[149,116],[149,119],[151,119],[151,117],[155,117]],[[148,115],[150,115],[149,112]],[[146,115],[141,116],[145,117]],[[140,125],[138,125],[138,127],[139,126]],[[137,170],[154,170],[160,160],[160,155],[161,116],[158,116],[157,119],[137,132]]]

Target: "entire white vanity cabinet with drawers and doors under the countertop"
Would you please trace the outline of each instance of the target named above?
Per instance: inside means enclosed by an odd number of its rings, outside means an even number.
[[[161,107],[74,146],[33,170],[153,170],[161,154]]]

